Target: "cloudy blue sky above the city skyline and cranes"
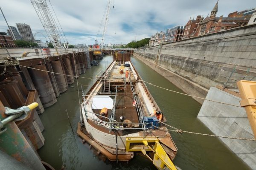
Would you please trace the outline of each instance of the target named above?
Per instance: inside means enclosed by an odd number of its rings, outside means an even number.
[[[49,0],[46,2],[52,10]],[[95,43],[108,0],[50,2],[70,44]],[[135,37],[141,40],[174,26],[185,26],[190,17],[206,17],[216,2],[217,0],[112,0],[104,44],[127,44],[135,40]],[[9,26],[26,23],[31,27],[33,34],[40,32],[36,34],[35,39],[45,41],[42,34],[47,34],[30,0],[1,0],[0,7]],[[217,16],[225,17],[233,11],[254,7],[256,0],[219,0]],[[0,31],[6,32],[6,29],[8,27],[0,14]],[[99,43],[102,32],[103,28],[97,38]]]

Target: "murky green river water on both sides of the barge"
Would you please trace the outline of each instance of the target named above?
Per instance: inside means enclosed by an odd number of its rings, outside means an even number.
[[[132,57],[134,67],[143,80],[155,85],[182,92],[175,85],[145,65],[140,60]],[[92,66],[81,77],[95,77],[112,62],[111,56],[106,56],[98,66]],[[78,79],[83,84],[83,90],[88,91],[95,80]],[[81,90],[79,84],[79,90]],[[87,86],[85,86],[87,85]],[[58,97],[58,102],[45,109],[40,116],[44,124],[44,146],[38,150],[43,161],[51,164],[56,170],[62,166],[65,170],[156,170],[151,161],[136,156],[129,162],[115,162],[98,157],[88,144],[82,144],[76,135],[79,122],[79,97],[76,82],[68,91]],[[198,133],[211,131],[197,119],[201,105],[189,96],[175,94],[151,85],[147,85],[150,93],[166,116],[170,125],[182,130]],[[81,93],[81,91],[79,91]],[[80,94],[81,95],[81,94]],[[81,97],[81,96],[80,96]],[[74,130],[74,135],[67,119],[67,113]],[[177,134],[171,132],[172,139],[178,147],[174,164],[182,170],[249,170],[250,168],[241,161],[218,138],[198,136],[193,134]],[[235,139],[230,139],[235,140]]]

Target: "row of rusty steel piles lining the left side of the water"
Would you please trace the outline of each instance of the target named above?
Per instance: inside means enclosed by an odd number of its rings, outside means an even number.
[[[19,65],[6,66],[3,63],[0,68],[3,72],[0,77],[1,120],[6,117],[3,106],[17,109],[33,102],[38,103],[38,107],[26,119],[9,123],[1,129],[0,150],[4,151],[1,153],[3,156],[7,153],[25,163],[27,168],[43,170],[44,167],[50,167],[45,163],[43,166],[35,152],[44,146],[45,140],[42,135],[44,126],[38,115],[44,112],[44,108],[55,104],[57,97],[74,83],[75,76],[85,73],[87,68],[86,52],[22,59]],[[13,147],[13,143],[17,145]],[[16,160],[14,162],[17,163]]]

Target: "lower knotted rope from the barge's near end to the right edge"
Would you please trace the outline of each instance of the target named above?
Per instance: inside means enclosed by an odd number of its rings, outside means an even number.
[[[158,129],[162,129],[162,130],[169,130],[169,131],[173,131],[173,132],[177,132],[177,133],[191,133],[191,134],[196,134],[196,135],[203,135],[203,136],[212,136],[212,137],[218,137],[218,138],[227,138],[227,139],[239,139],[239,140],[247,140],[247,141],[256,141],[256,139],[247,139],[247,138],[236,138],[236,137],[230,137],[230,136],[217,136],[217,135],[210,135],[210,134],[205,134],[205,133],[196,133],[196,132],[189,132],[189,131],[185,131],[185,130],[181,130],[181,129],[178,129],[174,126],[171,126],[171,125],[168,125],[164,122],[161,122],[159,121],[160,123],[162,123],[163,125],[166,125],[166,126],[169,126],[175,130],[171,130],[171,129],[164,129],[164,128],[161,128],[161,127],[157,127],[157,126],[154,126]]]

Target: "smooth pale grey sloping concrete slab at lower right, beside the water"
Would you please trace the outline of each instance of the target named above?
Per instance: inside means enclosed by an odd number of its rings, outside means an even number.
[[[218,88],[210,88],[207,99],[240,105],[241,100]],[[212,132],[218,136],[232,136],[253,139],[247,114],[244,108],[233,107],[216,102],[204,101],[198,113],[200,119]],[[239,156],[253,170],[256,169],[256,142],[238,139],[219,138],[237,156]]]

